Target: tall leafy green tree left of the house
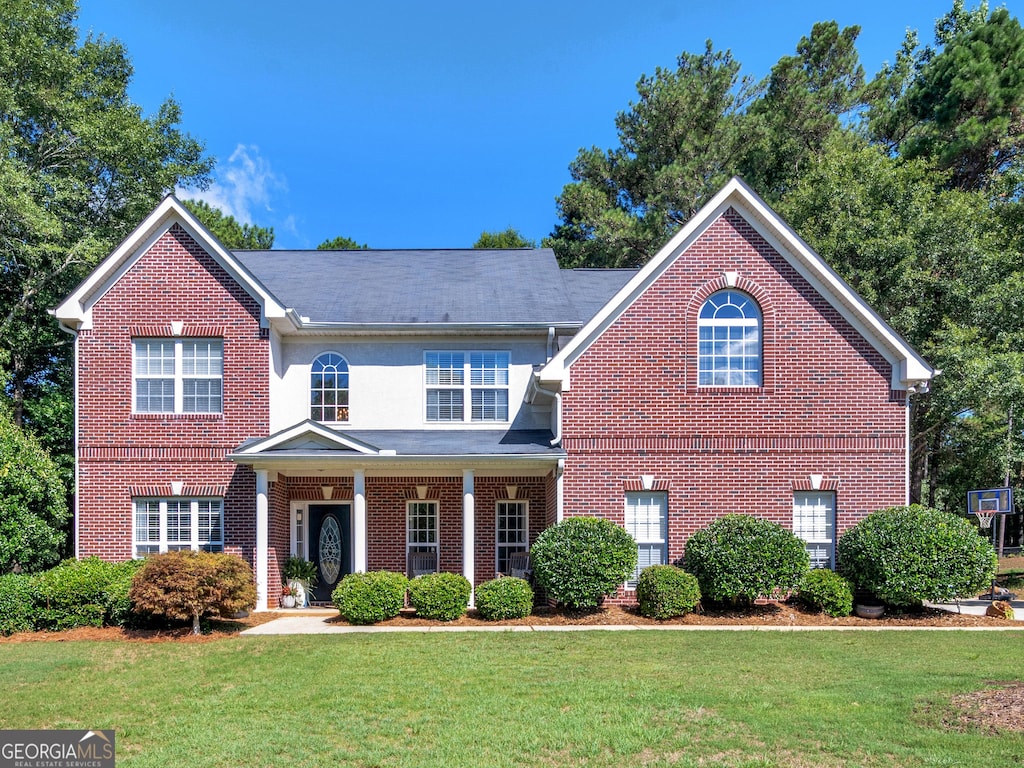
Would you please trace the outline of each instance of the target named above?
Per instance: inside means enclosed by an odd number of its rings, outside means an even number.
[[[0,5],[0,366],[17,423],[27,400],[67,383],[70,339],[46,309],[165,194],[211,168],[174,100],[142,116],[124,47],[80,41],[77,12],[75,0]]]

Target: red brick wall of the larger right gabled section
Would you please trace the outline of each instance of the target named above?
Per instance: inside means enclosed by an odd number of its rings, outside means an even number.
[[[697,313],[727,287],[763,315],[763,385],[697,386]],[[669,561],[715,517],[793,524],[811,474],[837,534],[905,494],[903,392],[889,364],[733,209],[571,368],[563,395],[564,514],[624,522],[627,489],[668,492]]]

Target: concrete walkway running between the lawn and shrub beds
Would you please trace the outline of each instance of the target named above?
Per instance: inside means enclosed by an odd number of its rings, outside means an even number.
[[[1024,623],[1024,601],[1014,600],[1014,617]],[[958,609],[955,604],[936,604],[932,607],[951,613],[984,615],[988,602],[984,600],[964,600]],[[299,611],[279,610],[281,615],[272,622],[245,630],[243,635],[358,635],[389,632],[1019,632],[1019,627],[830,627],[830,626],[757,626],[757,625],[497,625],[494,627],[474,625],[451,626],[444,624],[429,627],[353,627],[337,624],[329,620],[338,615],[334,608],[307,609]]]

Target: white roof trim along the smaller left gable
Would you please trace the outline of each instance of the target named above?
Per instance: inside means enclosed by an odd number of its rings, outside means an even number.
[[[260,306],[261,325],[271,318],[286,316],[285,307],[230,251],[170,195],[161,202],[114,252],[103,259],[72,294],[51,313],[60,325],[86,330],[92,325],[92,307],[121,280],[132,266],[173,226],[180,226],[210,257],[219,264]]]

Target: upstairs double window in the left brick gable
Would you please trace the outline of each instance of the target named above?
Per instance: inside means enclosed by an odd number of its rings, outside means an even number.
[[[136,414],[223,412],[220,339],[135,339]]]

